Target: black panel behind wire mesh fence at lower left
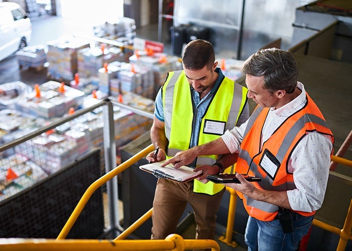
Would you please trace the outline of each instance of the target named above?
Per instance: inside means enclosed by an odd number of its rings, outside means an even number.
[[[94,150],[0,202],[0,237],[56,238],[85,190],[100,177],[100,150]],[[98,189],[67,238],[97,238],[103,232],[103,196]]]

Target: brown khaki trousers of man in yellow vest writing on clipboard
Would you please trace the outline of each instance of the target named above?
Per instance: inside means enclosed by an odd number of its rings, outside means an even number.
[[[194,193],[193,181],[178,183],[158,179],[153,201],[151,238],[164,239],[167,235],[175,233],[187,203],[190,203],[197,223],[195,237],[214,239],[216,213],[224,192],[225,188],[213,196]]]

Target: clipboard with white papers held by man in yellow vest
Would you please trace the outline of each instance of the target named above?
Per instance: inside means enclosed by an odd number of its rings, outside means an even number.
[[[185,183],[201,176],[203,171],[194,172],[193,168],[182,166],[178,169],[173,168],[173,165],[168,164],[161,167],[165,161],[150,163],[139,166],[139,169],[152,174],[155,178],[167,179],[175,182]]]

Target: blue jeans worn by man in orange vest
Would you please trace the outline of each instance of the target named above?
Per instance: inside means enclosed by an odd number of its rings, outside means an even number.
[[[312,216],[292,214],[293,232],[284,233],[279,219],[261,221],[249,216],[244,240],[249,251],[297,250],[313,222]]]

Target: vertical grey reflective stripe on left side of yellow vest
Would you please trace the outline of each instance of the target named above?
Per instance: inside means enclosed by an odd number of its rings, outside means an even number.
[[[168,140],[170,140],[171,133],[171,118],[172,118],[172,105],[173,105],[173,90],[175,84],[182,71],[175,71],[169,80],[166,91],[165,91],[165,103],[164,103],[164,121],[165,121],[165,135]],[[167,117],[166,117],[167,116]],[[173,156],[168,154],[168,156]]]

